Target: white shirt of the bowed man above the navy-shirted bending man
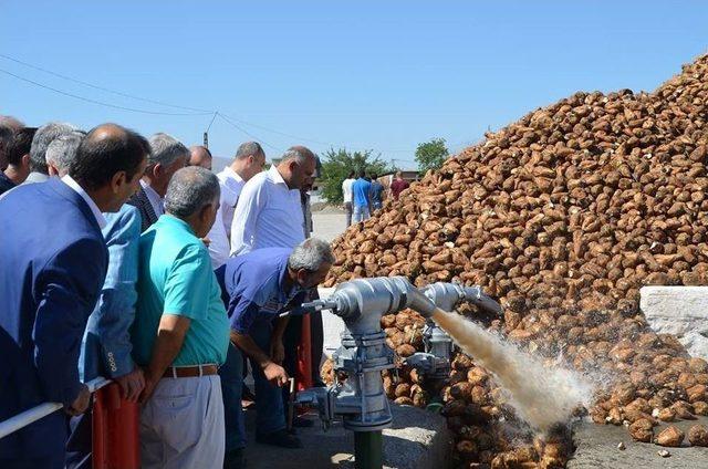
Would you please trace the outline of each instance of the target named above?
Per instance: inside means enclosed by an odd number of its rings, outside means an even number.
[[[231,225],[231,256],[261,248],[294,248],[304,241],[300,190],[290,189],[278,168],[243,186]]]

